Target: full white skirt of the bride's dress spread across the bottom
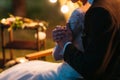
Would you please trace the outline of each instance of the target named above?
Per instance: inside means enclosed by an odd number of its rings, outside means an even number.
[[[75,80],[79,77],[67,63],[40,60],[20,63],[0,73],[0,80]]]

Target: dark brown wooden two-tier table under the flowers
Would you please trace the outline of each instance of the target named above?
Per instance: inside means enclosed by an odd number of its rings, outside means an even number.
[[[13,59],[12,49],[19,49],[19,50],[26,49],[26,50],[39,51],[41,47],[45,48],[46,38],[43,40],[39,40],[39,30],[40,30],[39,28],[41,27],[40,25],[25,26],[24,29],[22,29],[22,30],[25,30],[25,29],[35,30],[38,37],[34,41],[14,40],[13,32],[15,30],[12,29],[8,32],[9,33],[9,41],[6,42],[4,33],[5,33],[5,29],[8,29],[9,27],[10,27],[10,25],[4,25],[2,23],[0,24],[3,64],[5,64],[5,62],[6,62],[5,49],[10,50],[10,59]],[[17,28],[17,29],[21,29],[21,28]],[[45,32],[45,31],[43,31],[43,32]]]

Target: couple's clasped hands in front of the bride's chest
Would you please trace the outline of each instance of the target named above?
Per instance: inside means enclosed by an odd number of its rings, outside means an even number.
[[[52,31],[52,37],[53,41],[63,48],[67,42],[72,41],[72,32],[67,26],[56,26],[56,28]]]

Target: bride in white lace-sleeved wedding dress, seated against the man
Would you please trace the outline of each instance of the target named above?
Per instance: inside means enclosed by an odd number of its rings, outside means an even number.
[[[75,3],[82,0],[71,1]],[[73,43],[78,49],[82,51],[84,51],[81,39],[82,31],[84,29],[84,15],[86,10],[90,7],[91,1],[92,0],[88,0],[84,6],[74,10],[70,19],[68,20],[67,27],[73,33]],[[53,52],[53,57],[55,60],[62,59],[62,51],[63,50],[58,45],[56,45]],[[78,78],[82,79],[83,77],[64,61],[61,63],[40,60],[28,61],[17,64],[0,73],[0,80],[76,80]]]

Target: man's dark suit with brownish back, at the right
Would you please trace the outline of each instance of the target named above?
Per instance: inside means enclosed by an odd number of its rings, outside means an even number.
[[[95,0],[85,15],[85,34],[83,36],[85,52],[68,44],[65,48],[64,60],[84,78],[93,77],[103,62],[114,29],[120,28],[119,25],[120,0]],[[114,36],[110,52],[118,42],[117,38],[118,32]],[[120,43],[114,50],[107,72],[111,72],[118,53],[120,53]]]

